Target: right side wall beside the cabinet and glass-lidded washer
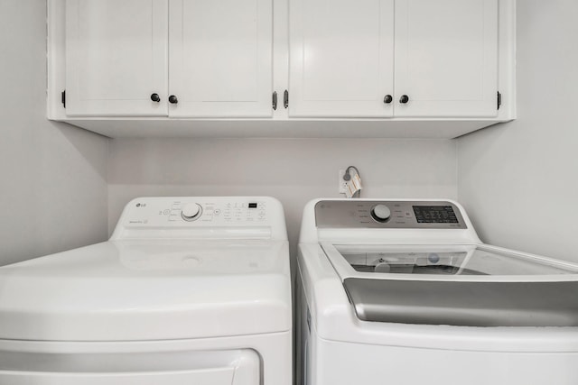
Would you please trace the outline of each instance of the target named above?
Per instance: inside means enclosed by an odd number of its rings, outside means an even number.
[[[480,237],[578,261],[578,2],[517,2],[517,115],[458,140]]]

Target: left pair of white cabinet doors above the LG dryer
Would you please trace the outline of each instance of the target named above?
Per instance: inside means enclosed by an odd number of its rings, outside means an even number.
[[[69,116],[272,115],[272,0],[67,0]]]

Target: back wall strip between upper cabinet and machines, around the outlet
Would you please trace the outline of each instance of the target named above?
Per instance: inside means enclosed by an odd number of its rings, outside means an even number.
[[[266,195],[283,203],[294,247],[305,203],[340,197],[340,169],[359,168],[362,197],[455,198],[455,160],[449,140],[115,139],[109,231],[133,197]]]

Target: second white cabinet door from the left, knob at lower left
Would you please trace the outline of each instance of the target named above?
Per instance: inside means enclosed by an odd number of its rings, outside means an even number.
[[[272,115],[272,0],[170,0],[174,117]]]

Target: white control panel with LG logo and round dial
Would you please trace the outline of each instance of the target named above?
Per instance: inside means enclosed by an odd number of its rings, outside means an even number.
[[[126,207],[125,226],[266,225],[264,198],[167,197],[138,198]]]

